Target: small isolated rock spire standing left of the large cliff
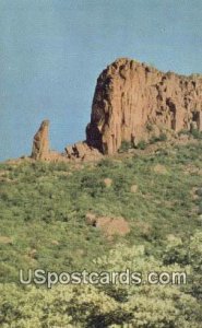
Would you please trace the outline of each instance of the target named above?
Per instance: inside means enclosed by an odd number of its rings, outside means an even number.
[[[34,136],[31,157],[34,160],[49,160],[49,120],[44,120]]]

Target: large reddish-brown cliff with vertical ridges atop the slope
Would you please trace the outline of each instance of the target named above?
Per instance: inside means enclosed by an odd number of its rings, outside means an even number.
[[[161,72],[127,58],[97,80],[86,142],[104,154],[122,141],[138,143],[162,132],[202,130],[202,75]]]

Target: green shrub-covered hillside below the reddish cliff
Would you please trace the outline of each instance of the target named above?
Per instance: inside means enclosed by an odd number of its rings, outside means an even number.
[[[0,325],[201,327],[201,154],[198,142],[97,164],[1,164]],[[88,212],[122,216],[130,233],[106,238],[86,224]],[[58,273],[182,270],[189,281],[22,286],[19,270],[37,268]]]

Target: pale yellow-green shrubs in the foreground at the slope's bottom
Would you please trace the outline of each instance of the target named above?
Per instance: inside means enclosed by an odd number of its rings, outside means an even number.
[[[200,237],[201,238],[201,237]],[[199,236],[192,241],[199,247]],[[194,247],[194,245],[192,246]],[[199,251],[201,251],[199,249]],[[201,253],[200,253],[201,254]],[[97,271],[187,272],[190,267],[165,266],[146,256],[142,245],[118,244],[97,257]],[[201,305],[178,284],[56,285],[51,290],[0,285],[1,327],[201,327]]]

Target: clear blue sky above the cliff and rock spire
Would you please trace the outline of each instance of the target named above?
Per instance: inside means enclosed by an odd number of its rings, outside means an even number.
[[[0,0],[0,161],[85,138],[96,79],[118,57],[202,72],[201,0]]]

